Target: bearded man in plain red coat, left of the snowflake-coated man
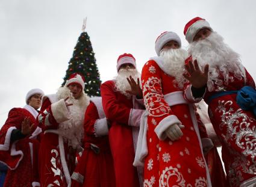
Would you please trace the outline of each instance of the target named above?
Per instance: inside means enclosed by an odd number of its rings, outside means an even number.
[[[140,117],[145,111],[141,109],[140,73],[131,54],[120,55],[116,67],[116,78],[101,85],[102,106],[111,126],[108,136],[116,186],[142,186],[142,168],[133,166]]]

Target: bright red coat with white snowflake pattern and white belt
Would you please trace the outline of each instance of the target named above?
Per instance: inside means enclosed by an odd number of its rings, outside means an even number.
[[[160,58],[156,60],[149,60],[142,70],[148,111],[144,186],[211,186],[194,106],[184,100],[174,78],[160,68]],[[183,136],[170,141],[164,131],[174,123],[185,126]]]

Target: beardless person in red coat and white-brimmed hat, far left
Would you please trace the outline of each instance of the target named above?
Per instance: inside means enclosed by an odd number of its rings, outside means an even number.
[[[27,93],[23,108],[13,108],[0,130],[0,162],[8,166],[4,186],[40,186],[37,171],[39,141],[37,109],[42,105],[43,91]]]

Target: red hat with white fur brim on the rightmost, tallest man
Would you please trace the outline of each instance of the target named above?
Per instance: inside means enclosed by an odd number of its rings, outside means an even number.
[[[202,28],[208,28],[213,31],[207,20],[202,19],[201,17],[195,17],[190,20],[184,28],[184,35],[186,35],[186,40],[189,41],[189,43],[192,43],[196,33],[198,33],[198,31]]]

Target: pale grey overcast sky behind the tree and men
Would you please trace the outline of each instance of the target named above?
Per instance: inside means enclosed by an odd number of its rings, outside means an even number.
[[[116,75],[116,60],[124,52],[136,58],[138,69],[155,56],[154,43],[163,31],[174,31],[183,47],[184,25],[205,18],[237,51],[256,78],[256,2],[251,1],[63,1],[0,2],[0,126],[8,111],[25,105],[31,88],[55,93],[81,34],[83,19],[101,74]]]

